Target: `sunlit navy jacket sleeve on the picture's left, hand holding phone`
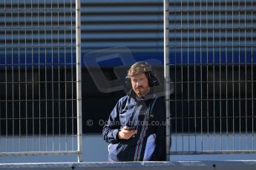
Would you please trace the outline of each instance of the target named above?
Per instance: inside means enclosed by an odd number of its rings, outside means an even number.
[[[120,108],[120,100],[114,106],[114,109],[111,112],[111,115],[108,118],[108,123],[103,126],[102,136],[105,142],[107,143],[118,143],[119,138],[117,136],[120,129],[120,121],[119,121],[119,108]]]

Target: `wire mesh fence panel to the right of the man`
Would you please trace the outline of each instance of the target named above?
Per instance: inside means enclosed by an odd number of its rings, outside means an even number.
[[[256,2],[165,6],[170,154],[255,153]]]

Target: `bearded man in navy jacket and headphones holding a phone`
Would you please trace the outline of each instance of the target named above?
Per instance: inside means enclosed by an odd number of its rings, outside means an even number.
[[[114,106],[102,135],[109,161],[165,160],[165,101],[154,94],[159,81],[151,66],[137,62],[128,70],[132,89]]]

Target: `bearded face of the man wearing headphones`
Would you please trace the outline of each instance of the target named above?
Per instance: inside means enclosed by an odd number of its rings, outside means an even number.
[[[131,77],[131,85],[132,85],[132,89],[134,89],[134,92],[139,97],[145,96],[150,90],[150,88],[148,86],[148,78],[145,75],[145,73],[132,76]]]

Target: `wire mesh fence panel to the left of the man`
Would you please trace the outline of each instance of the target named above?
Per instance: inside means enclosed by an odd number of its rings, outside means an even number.
[[[77,9],[73,0],[0,1],[0,156],[81,154]]]

